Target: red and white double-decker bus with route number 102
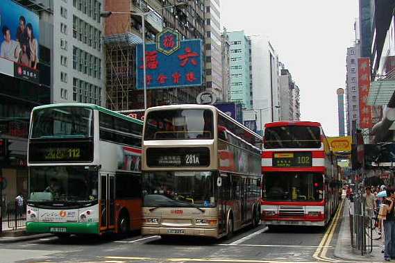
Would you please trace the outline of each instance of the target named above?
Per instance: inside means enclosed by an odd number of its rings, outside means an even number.
[[[321,124],[264,126],[262,220],[269,226],[326,226],[338,205],[337,163]]]

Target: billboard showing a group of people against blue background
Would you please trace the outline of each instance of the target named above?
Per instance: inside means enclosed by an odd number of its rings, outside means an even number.
[[[11,0],[3,0],[0,28],[0,73],[38,83],[39,17]]]

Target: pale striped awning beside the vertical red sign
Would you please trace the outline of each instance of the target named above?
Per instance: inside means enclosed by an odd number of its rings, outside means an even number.
[[[395,80],[376,80],[370,85],[367,105],[387,105],[392,94],[395,92]]]

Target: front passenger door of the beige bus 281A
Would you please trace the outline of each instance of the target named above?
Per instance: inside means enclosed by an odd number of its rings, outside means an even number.
[[[226,232],[226,217],[228,216],[228,202],[230,201],[230,176],[221,173],[217,180],[218,201],[218,232]]]

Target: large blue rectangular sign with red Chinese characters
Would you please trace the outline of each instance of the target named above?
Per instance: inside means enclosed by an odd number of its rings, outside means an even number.
[[[164,39],[165,46],[176,44]],[[158,51],[157,44],[146,44],[146,88],[199,86],[203,81],[201,40],[182,40],[180,48],[166,55]],[[142,44],[137,45],[137,90],[144,89]]]

